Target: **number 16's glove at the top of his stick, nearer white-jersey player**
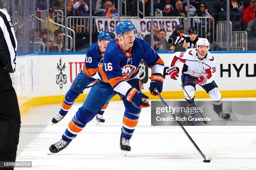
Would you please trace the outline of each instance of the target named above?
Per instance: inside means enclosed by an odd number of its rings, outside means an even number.
[[[151,95],[157,95],[155,92],[155,88],[159,91],[159,93],[161,93],[163,90],[164,77],[161,74],[156,73],[156,74],[152,74],[150,79],[151,79],[151,82],[150,82],[149,91],[151,92]]]

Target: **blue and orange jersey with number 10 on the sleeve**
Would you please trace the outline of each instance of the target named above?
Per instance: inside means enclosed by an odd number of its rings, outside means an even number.
[[[86,53],[84,66],[82,68],[84,74],[89,77],[92,77],[93,75],[95,75],[97,70],[102,65],[103,58],[104,58],[104,52],[100,51],[98,42],[95,42],[92,45],[90,45]]]

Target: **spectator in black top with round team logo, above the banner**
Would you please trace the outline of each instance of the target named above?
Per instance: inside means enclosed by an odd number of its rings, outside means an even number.
[[[175,0],[158,0],[156,8],[162,11],[163,16],[168,16],[169,12],[174,10]]]

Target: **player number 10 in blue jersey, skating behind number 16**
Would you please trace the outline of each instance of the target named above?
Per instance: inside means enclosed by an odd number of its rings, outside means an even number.
[[[108,42],[111,40],[110,32],[101,31],[98,34],[98,41],[93,43],[87,50],[87,55],[85,57],[84,65],[79,72],[79,74],[74,79],[69,91],[65,95],[65,98],[62,102],[61,109],[59,110],[59,114],[52,118],[53,123],[58,123],[60,120],[67,115],[67,112],[72,107],[74,100],[83,92],[84,87],[87,87],[92,82],[97,80],[95,78],[95,74],[99,67],[102,65],[102,61],[104,58],[104,52],[108,45]],[[103,113],[108,103],[106,103],[102,110],[100,110],[96,116],[97,125],[102,125],[105,122],[103,118]]]

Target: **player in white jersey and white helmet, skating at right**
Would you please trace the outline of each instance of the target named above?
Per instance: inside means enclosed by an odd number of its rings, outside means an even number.
[[[222,97],[218,85],[214,81],[216,74],[215,59],[208,51],[210,43],[206,38],[200,38],[196,43],[196,48],[189,48],[186,52],[175,52],[169,63],[167,70],[170,77],[177,80],[178,71],[175,65],[177,62],[184,63],[182,68],[182,84],[187,93],[184,92],[185,99],[189,104],[195,99],[196,84],[199,84],[213,100],[213,110],[223,119],[230,118],[229,114],[223,112]],[[175,77],[176,76],[176,77]],[[189,98],[190,97],[190,98]]]

